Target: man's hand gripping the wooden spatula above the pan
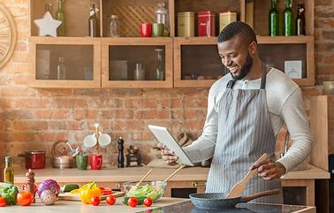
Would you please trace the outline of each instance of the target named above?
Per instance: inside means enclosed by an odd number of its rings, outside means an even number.
[[[273,162],[268,158],[258,164],[254,164],[249,170],[257,170],[258,175],[265,180],[279,179],[286,171],[284,165]]]

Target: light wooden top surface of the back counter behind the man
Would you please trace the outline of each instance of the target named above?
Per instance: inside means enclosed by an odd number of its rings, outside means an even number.
[[[139,181],[142,176],[149,171],[149,167],[133,167],[122,169],[102,169],[86,170],[77,169],[43,169],[34,170],[35,181],[42,182],[44,179],[55,179],[60,183],[81,183],[81,182],[125,182]],[[146,180],[166,179],[175,169],[153,168],[153,171]],[[25,173],[27,171],[15,171],[14,183],[26,183]],[[209,168],[187,167],[171,178],[172,181],[205,181],[208,179]],[[306,171],[290,171],[282,179],[330,179],[330,172],[323,171],[315,166],[311,166]]]

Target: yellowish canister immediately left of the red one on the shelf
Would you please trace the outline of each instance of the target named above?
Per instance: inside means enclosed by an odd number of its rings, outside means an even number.
[[[194,37],[194,11],[178,12],[178,37]]]

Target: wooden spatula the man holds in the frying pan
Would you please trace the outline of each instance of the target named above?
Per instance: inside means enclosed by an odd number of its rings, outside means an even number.
[[[260,156],[259,159],[257,159],[257,161],[254,164],[257,164],[265,160],[267,157],[268,157],[267,153],[264,153],[262,156]],[[241,196],[241,194],[245,191],[249,179],[253,177],[255,172],[256,170],[248,171],[244,179],[241,179],[239,183],[237,183],[232,187],[230,192],[226,195],[226,198],[235,198]]]

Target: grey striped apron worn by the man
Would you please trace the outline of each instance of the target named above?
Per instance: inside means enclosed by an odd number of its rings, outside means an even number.
[[[260,89],[233,90],[235,80],[227,84],[218,105],[218,132],[207,193],[228,193],[265,152],[275,161],[276,137],[267,106],[265,67],[262,65]],[[274,188],[281,189],[279,179],[267,181],[255,173],[242,195]],[[283,203],[283,196],[265,196],[254,202]]]

